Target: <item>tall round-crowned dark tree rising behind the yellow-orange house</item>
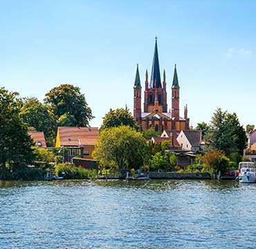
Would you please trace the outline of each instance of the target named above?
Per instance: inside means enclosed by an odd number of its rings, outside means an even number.
[[[57,118],[64,114],[73,116],[75,122],[72,123],[72,126],[86,127],[89,125],[89,121],[94,118],[84,94],[80,93],[80,88],[71,84],[54,87],[46,93],[44,101],[51,106]]]

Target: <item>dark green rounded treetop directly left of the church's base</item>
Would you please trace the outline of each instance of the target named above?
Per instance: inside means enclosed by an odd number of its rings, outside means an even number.
[[[110,128],[110,127],[120,127],[120,126],[136,127],[135,121],[129,109],[118,108],[116,110],[110,109],[110,111],[105,114],[100,130]]]

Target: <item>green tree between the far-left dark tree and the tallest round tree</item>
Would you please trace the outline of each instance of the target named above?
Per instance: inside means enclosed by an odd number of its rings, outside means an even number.
[[[55,116],[46,104],[42,104],[37,98],[25,98],[19,115],[30,130],[43,131],[47,144],[54,145],[57,124]]]

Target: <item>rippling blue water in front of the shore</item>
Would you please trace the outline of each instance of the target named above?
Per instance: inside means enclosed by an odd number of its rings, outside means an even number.
[[[0,248],[256,248],[256,185],[0,181]]]

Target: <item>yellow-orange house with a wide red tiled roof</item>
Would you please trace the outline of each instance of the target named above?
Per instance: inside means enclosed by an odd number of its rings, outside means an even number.
[[[64,159],[73,157],[92,159],[92,153],[100,136],[98,127],[58,127],[55,147],[65,147]]]

